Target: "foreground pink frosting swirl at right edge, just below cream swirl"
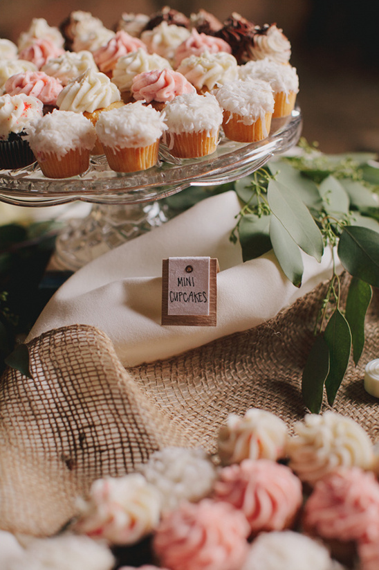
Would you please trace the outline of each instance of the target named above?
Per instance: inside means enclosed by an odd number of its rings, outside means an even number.
[[[379,483],[359,467],[338,467],[318,481],[304,508],[304,530],[327,539],[363,540],[379,524]]]

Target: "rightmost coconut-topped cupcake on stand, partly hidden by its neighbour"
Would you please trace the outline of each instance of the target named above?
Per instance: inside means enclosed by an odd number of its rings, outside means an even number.
[[[266,57],[264,60],[248,62],[239,68],[240,79],[251,78],[268,81],[274,94],[274,113],[272,118],[291,114],[299,92],[299,78],[293,66],[283,65]]]

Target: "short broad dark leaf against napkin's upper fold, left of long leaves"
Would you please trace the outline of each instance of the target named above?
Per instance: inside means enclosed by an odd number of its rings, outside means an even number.
[[[238,226],[243,261],[255,259],[272,249],[269,235],[271,215],[246,214]]]

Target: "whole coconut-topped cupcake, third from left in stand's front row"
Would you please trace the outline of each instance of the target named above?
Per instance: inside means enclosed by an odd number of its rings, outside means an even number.
[[[223,120],[211,93],[178,95],[165,107],[165,142],[175,157],[189,159],[212,154]]]

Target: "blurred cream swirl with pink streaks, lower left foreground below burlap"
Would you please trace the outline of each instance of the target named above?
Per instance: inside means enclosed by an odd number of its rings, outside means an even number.
[[[75,531],[111,544],[133,544],[151,533],[160,517],[160,495],[139,473],[98,479],[81,506]]]

